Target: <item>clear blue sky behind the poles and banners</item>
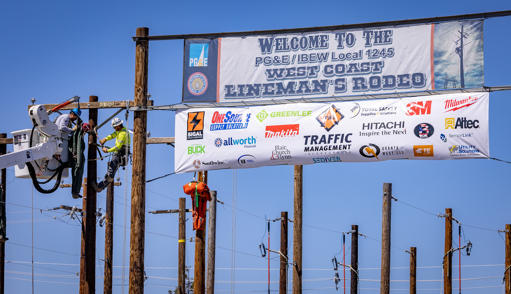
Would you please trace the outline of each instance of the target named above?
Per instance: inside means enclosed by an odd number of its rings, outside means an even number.
[[[100,101],[133,100],[135,43],[131,36],[138,27],[148,27],[150,35],[194,34],[332,26],[509,9],[511,4],[506,1],[473,0],[4,2],[0,12],[0,132],[32,127],[27,113],[31,97],[40,104],[59,103],[74,95],[81,96],[82,102],[88,101],[89,95],[99,96]],[[511,17],[484,22],[486,86],[511,84],[508,72],[511,41],[507,37],[510,27]],[[149,92],[156,105],[180,102],[182,50],[182,41],[149,44]],[[490,94],[490,148],[491,157],[510,161],[507,118],[511,101],[508,97],[509,91]],[[113,112],[101,110],[99,120]],[[87,115],[84,111],[83,117]],[[132,116],[131,113],[129,126]],[[104,127],[100,137],[110,131],[111,128]],[[149,112],[148,131],[153,137],[174,136],[174,112]],[[149,145],[147,152],[147,179],[173,172],[171,146]],[[404,250],[410,247],[417,247],[420,292],[440,291],[445,220],[436,214],[444,213],[446,208],[452,208],[454,217],[463,224],[462,245],[468,239],[474,244],[472,254],[462,256],[461,264],[465,265],[461,268],[465,279],[462,287],[466,288],[462,292],[501,293],[504,242],[497,230],[511,223],[507,186],[510,167],[508,163],[485,159],[304,166],[304,292],[335,292],[331,259],[342,250],[342,232],[349,231],[351,225],[358,225],[359,231],[367,236],[359,238],[360,292],[379,292],[382,185],[389,182],[394,197],[400,200],[392,203],[390,288],[393,293],[408,291],[409,254]],[[125,187],[128,188],[126,224],[130,224],[131,168],[128,169],[127,177],[121,170],[123,184],[115,187],[113,291],[116,293],[122,287]],[[102,176],[105,170],[106,161],[98,162],[98,175]],[[190,180],[192,175],[181,174],[148,183],[146,210],[176,209],[178,198],[184,197],[182,185]],[[34,293],[78,292],[80,224],[63,210],[44,210],[60,205],[81,206],[82,201],[72,199],[68,189],[40,194],[29,180],[14,179],[13,168],[8,169],[7,182],[10,240],[6,244],[6,293],[30,293],[32,288]],[[267,291],[268,261],[261,257],[258,245],[267,242],[265,218],[279,217],[281,211],[288,211],[293,218],[293,167],[210,171],[209,186],[218,191],[218,198],[225,203],[219,205],[217,216],[216,291],[229,292],[232,285],[235,291]],[[188,199],[189,206],[190,203]],[[98,195],[98,207],[105,208],[105,192]],[[187,226],[187,236],[192,236],[190,220]],[[273,250],[278,249],[279,226],[271,224]],[[177,285],[177,227],[176,215],[146,214],[146,293],[167,293]],[[456,240],[457,230],[455,224]],[[292,235],[289,240],[292,252]],[[348,235],[347,257],[350,243]],[[129,228],[125,246],[128,266]],[[193,267],[194,243],[187,242],[187,254],[187,264]],[[272,253],[270,257],[271,289],[277,290],[278,256]],[[341,257],[342,253],[337,255],[339,261]],[[102,292],[104,227],[99,226],[97,258],[96,291]],[[453,260],[454,264],[458,263],[457,254]],[[231,271],[233,263],[234,272]],[[455,288],[457,271],[453,269]],[[128,273],[126,268],[125,284]],[[346,276],[349,277],[348,272]]]

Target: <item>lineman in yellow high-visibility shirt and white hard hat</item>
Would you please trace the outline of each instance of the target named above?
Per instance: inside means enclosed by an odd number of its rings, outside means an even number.
[[[110,164],[108,165],[108,171],[105,175],[105,179],[99,184],[96,183],[96,181],[91,182],[91,185],[94,187],[96,192],[103,191],[103,189],[105,189],[108,184],[113,181],[113,177],[115,176],[115,172],[119,169],[119,166],[126,165],[126,157],[127,154],[129,154],[131,140],[128,129],[123,127],[123,122],[123,120],[117,117],[112,119],[112,127],[115,132],[111,133],[108,137],[99,140],[99,142],[103,145],[106,141],[115,138],[115,145],[110,149],[103,147],[103,152],[113,152],[113,154],[110,159]]]

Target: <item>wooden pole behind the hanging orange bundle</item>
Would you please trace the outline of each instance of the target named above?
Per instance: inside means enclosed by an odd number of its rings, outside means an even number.
[[[199,182],[204,182],[207,185],[207,171],[199,171]],[[204,227],[206,227],[206,220],[204,219]],[[205,230],[195,230],[195,268],[193,280],[194,294],[205,293],[205,258],[206,252],[204,250]]]

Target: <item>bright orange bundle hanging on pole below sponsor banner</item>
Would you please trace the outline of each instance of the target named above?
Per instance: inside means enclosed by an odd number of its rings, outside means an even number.
[[[193,229],[204,230],[206,206],[211,201],[210,188],[204,182],[190,182],[183,186],[183,191],[192,196]]]

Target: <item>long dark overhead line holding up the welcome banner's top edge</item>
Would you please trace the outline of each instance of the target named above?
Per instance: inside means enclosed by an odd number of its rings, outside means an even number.
[[[420,24],[420,23],[432,23],[432,22],[446,22],[446,21],[457,21],[467,19],[480,19],[480,18],[492,18],[511,15],[511,10],[505,11],[494,11],[494,12],[483,12],[473,13],[464,15],[452,15],[452,16],[439,16],[429,18],[416,18],[416,19],[404,19],[404,20],[392,20],[392,21],[377,21],[377,22],[366,22],[357,24],[341,24],[337,26],[327,27],[311,27],[311,28],[298,28],[298,29],[278,29],[278,30],[265,30],[265,31],[248,31],[248,32],[229,32],[229,33],[209,33],[209,34],[187,34],[187,35],[164,35],[164,36],[138,36],[131,37],[133,41],[156,41],[156,40],[184,40],[191,38],[226,38],[226,37],[246,37],[246,36],[261,36],[261,35],[275,35],[275,34],[294,34],[294,33],[310,33],[310,32],[326,32],[336,30],[353,30],[353,29],[367,29],[376,27],[390,27],[390,26],[405,26],[409,24]]]

